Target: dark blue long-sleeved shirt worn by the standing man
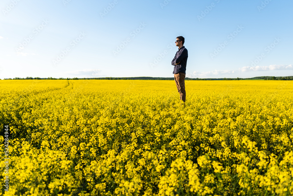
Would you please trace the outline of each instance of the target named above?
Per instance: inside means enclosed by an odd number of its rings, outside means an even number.
[[[188,58],[187,49],[184,46],[182,46],[181,48],[178,48],[178,51],[177,51],[177,53],[171,63],[172,65],[175,66],[173,74],[176,74],[179,72],[185,73],[187,58]],[[180,62],[180,63],[178,65],[176,65],[178,62]]]

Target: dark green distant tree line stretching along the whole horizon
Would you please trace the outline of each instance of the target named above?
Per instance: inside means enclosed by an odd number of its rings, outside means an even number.
[[[1,79],[0,79],[1,80]],[[4,78],[4,80],[174,80],[174,77],[98,77],[98,78],[40,78],[40,77],[15,77]],[[252,77],[252,78],[188,78],[185,80],[293,80],[293,76],[286,77],[275,77],[275,76],[261,76],[261,77]]]

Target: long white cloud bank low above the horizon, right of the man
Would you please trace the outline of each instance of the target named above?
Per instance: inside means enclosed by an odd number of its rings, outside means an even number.
[[[292,65],[269,65],[269,66],[255,66],[255,67],[241,67],[239,70],[213,70],[209,72],[194,71],[193,74],[188,74],[186,77],[221,77],[222,75],[241,73],[241,72],[252,72],[252,71],[270,71],[270,70],[293,70]]]

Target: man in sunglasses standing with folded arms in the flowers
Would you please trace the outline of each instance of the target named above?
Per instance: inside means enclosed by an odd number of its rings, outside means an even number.
[[[176,38],[176,46],[178,46],[178,51],[172,60],[172,65],[174,65],[174,79],[180,94],[180,102],[183,101],[185,107],[185,74],[186,74],[186,63],[188,58],[187,49],[183,46],[184,37],[179,36]]]

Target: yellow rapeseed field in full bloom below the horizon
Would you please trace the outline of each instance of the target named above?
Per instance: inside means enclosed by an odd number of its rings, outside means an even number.
[[[293,195],[293,82],[185,86],[0,80],[0,195]]]

